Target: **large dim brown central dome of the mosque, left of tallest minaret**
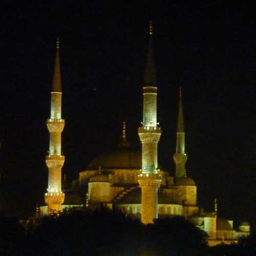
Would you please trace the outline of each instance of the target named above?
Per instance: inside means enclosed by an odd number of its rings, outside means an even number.
[[[87,170],[141,169],[141,151],[137,148],[118,147],[113,152],[99,155],[88,165]]]

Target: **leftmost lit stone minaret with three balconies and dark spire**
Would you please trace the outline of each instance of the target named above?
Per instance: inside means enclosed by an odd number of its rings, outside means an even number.
[[[46,124],[50,133],[49,155],[46,156],[46,164],[49,169],[48,188],[45,193],[45,202],[48,205],[48,214],[61,211],[65,194],[61,191],[61,168],[65,162],[65,156],[61,155],[61,132],[65,126],[65,120],[61,119],[61,79],[59,63],[59,39],[55,68],[51,91],[51,117]]]

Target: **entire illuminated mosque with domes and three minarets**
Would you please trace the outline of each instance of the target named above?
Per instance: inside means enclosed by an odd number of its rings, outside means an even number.
[[[208,234],[209,245],[236,243],[250,234],[250,226],[242,222],[238,230],[233,221],[218,216],[217,200],[214,211],[204,212],[197,205],[197,186],[186,173],[185,129],[182,108],[182,92],[179,94],[175,177],[158,166],[158,141],[161,127],[157,122],[157,81],[153,54],[153,28],[150,24],[148,52],[143,84],[143,122],[138,129],[141,150],[134,149],[126,139],[123,122],[122,140],[113,152],[97,156],[87,169],[79,172],[71,188],[61,186],[61,168],[65,156],[61,154],[61,132],[65,120],[61,117],[61,76],[59,41],[51,92],[51,115],[47,120],[50,134],[48,188],[46,206],[40,206],[40,215],[62,211],[67,207],[90,207],[105,205],[119,208],[142,223],[152,223],[155,218],[184,216]],[[64,177],[65,180],[65,177]]]

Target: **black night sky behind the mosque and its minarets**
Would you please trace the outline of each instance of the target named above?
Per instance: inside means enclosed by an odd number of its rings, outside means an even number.
[[[198,204],[256,227],[255,7],[240,5],[7,4],[1,17],[1,172],[6,212],[27,217],[47,187],[50,90],[60,37],[62,171],[71,181],[113,149],[127,121],[140,146],[142,84],[153,19],[159,163],[174,175],[178,88],[183,88],[187,173]],[[103,2],[108,4],[102,4]],[[138,1],[137,1],[138,2]],[[119,4],[118,4],[119,3]]]

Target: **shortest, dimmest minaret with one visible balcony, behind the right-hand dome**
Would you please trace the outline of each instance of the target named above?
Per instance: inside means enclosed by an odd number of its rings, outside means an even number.
[[[186,176],[185,164],[187,155],[185,153],[185,130],[184,130],[184,117],[182,109],[182,92],[180,88],[179,93],[179,112],[178,112],[178,125],[176,133],[176,153],[174,154],[174,162],[176,165],[176,180]]]

